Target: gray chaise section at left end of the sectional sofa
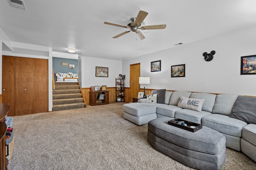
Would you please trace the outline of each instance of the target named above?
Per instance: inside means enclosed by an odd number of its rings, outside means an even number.
[[[156,107],[158,104],[151,103],[129,103],[123,105],[124,119],[136,125],[147,124],[148,121],[156,119]]]

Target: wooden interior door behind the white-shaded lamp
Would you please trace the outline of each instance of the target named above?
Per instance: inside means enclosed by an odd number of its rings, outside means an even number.
[[[140,63],[130,65],[130,96],[129,102],[132,102],[132,98],[137,98],[140,91],[139,84],[140,77]]]

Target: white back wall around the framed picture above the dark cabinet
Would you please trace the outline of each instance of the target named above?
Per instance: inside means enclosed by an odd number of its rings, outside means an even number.
[[[115,76],[122,74],[122,61],[82,56],[82,88],[90,86],[115,87]],[[108,67],[108,77],[96,77],[96,66]]]

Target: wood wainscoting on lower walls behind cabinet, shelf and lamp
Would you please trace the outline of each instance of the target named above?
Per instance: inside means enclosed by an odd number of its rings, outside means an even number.
[[[109,99],[108,99],[109,102],[110,103],[116,102],[116,87],[107,87],[107,90],[109,91]],[[154,89],[145,89],[146,95],[152,94],[152,90],[154,90]],[[82,93],[84,95],[86,104],[89,104],[89,102],[90,102],[89,92],[90,92],[90,88],[82,88]],[[140,92],[144,92],[144,89],[141,88]],[[129,96],[130,88],[124,88],[124,94],[125,94],[125,99],[124,100],[127,103],[129,102],[130,98],[133,98],[133,97],[136,98],[137,97],[137,96],[132,96],[132,97]]]

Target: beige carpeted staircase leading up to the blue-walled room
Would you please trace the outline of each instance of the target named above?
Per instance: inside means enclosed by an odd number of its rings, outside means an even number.
[[[52,90],[53,111],[85,107],[78,82],[55,82]]]

